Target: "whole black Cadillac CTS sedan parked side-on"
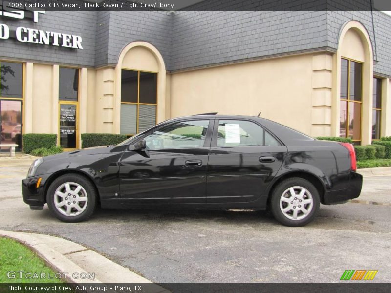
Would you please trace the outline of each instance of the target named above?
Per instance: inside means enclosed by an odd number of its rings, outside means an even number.
[[[160,123],[117,146],[37,159],[22,180],[31,209],[65,222],[107,209],[270,209],[287,226],[320,203],[359,196],[348,143],[318,141],[250,116],[195,115]]]

